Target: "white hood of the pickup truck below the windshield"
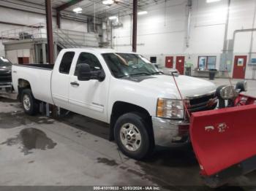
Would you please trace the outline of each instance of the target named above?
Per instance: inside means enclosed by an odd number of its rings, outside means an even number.
[[[132,77],[136,78],[136,77]],[[140,88],[148,88],[150,92],[157,93],[162,98],[180,98],[177,87],[173,80],[173,76],[155,75],[151,77],[140,77],[140,80],[132,80]],[[212,82],[205,79],[178,75],[175,77],[178,88],[181,90],[182,96],[197,96],[211,93],[216,90],[216,86]],[[136,86],[136,85],[135,85]]]

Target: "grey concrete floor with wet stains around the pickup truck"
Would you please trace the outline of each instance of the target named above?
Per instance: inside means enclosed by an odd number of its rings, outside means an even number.
[[[228,79],[216,79],[217,85]],[[256,81],[249,81],[256,95]],[[8,98],[4,98],[8,97]],[[108,127],[78,114],[27,116],[15,94],[0,93],[0,186],[160,186],[211,190],[203,185],[190,148],[158,149],[144,162],[108,141]],[[233,190],[256,188],[256,171],[230,181]],[[221,190],[226,190],[222,187]]]

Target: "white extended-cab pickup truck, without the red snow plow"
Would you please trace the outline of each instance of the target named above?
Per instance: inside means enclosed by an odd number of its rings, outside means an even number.
[[[213,83],[178,74],[175,79],[189,112],[217,106]],[[129,157],[189,142],[189,118],[173,76],[136,53],[61,50],[54,67],[13,65],[12,82],[27,114],[36,114],[43,101],[106,122]]]

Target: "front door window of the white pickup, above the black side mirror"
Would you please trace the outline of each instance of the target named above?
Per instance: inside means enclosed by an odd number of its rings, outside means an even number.
[[[87,63],[90,66],[91,71],[100,71],[102,70],[102,66],[99,63],[98,58],[87,52],[82,52],[79,55],[77,66],[75,67],[75,74],[74,76],[78,76],[78,66],[81,63]]]

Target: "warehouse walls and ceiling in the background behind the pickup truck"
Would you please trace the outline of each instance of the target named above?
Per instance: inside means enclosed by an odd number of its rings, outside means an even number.
[[[53,34],[62,47],[132,50],[132,1],[111,6],[102,1],[78,1],[66,9],[61,7],[67,3],[52,2]],[[47,43],[43,40],[47,36],[45,1],[1,1],[0,8],[0,55],[6,55],[12,63],[18,63],[20,57],[29,57],[29,63],[47,63],[46,58],[36,56],[42,47],[34,50],[33,45],[30,49],[31,44],[26,42],[18,48],[15,42],[20,42],[13,40],[25,37],[27,41],[34,39],[36,44]],[[83,10],[75,13],[75,8]],[[204,70],[209,68],[217,69],[220,77],[226,76],[226,70],[233,77],[235,56],[246,55],[244,79],[256,78],[255,1],[139,1],[138,12],[136,45],[138,52],[148,59],[161,66],[178,67],[181,72],[192,66],[193,76],[204,76]],[[19,36],[22,32],[28,36]],[[59,48],[61,45],[55,51]],[[182,66],[177,61],[182,61]]]

